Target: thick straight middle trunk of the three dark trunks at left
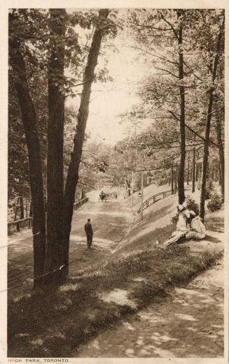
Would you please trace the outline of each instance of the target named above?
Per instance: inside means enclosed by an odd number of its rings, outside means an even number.
[[[48,64],[48,159],[46,284],[58,284],[64,270],[63,143],[64,143],[64,34],[66,10],[50,9],[50,60]]]

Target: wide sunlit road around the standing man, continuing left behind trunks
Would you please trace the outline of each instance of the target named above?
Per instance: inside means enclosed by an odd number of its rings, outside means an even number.
[[[92,221],[92,249],[86,248],[84,224]],[[70,275],[97,264],[118,245],[132,224],[133,214],[124,201],[99,203],[97,198],[74,212],[71,229]],[[8,287],[31,288],[33,277],[32,230],[25,230],[8,239]]]

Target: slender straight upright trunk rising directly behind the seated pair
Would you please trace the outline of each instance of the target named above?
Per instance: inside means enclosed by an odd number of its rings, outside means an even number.
[[[181,16],[181,11],[177,12],[178,18]],[[179,80],[183,80],[183,27],[180,24],[179,27]],[[178,175],[178,198],[179,203],[182,204],[185,200],[184,194],[184,171],[186,162],[186,126],[185,126],[185,89],[183,85],[179,86],[180,93],[180,138],[181,138],[181,159],[179,163],[179,175]]]

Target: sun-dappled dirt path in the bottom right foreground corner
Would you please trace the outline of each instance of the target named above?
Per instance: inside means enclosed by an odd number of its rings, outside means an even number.
[[[223,357],[223,261],[104,331],[73,356]]]

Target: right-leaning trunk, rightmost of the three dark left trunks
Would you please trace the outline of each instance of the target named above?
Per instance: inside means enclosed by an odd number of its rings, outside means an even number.
[[[95,33],[92,38],[92,44],[88,54],[88,62],[83,77],[81,104],[77,115],[76,134],[74,136],[74,150],[71,153],[71,161],[69,163],[67,182],[64,191],[64,265],[67,266],[67,273],[69,270],[69,238],[71,232],[71,219],[74,208],[76,184],[78,182],[78,169],[81,163],[83,141],[85,138],[85,127],[88,120],[90,93],[92,82],[95,77],[95,66],[97,65],[102,36],[104,34],[103,27],[106,23],[108,15],[108,9],[99,10],[100,26],[95,29]]]

